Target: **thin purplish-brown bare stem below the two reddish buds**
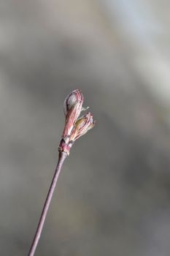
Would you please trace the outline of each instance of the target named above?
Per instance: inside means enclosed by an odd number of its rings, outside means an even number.
[[[58,181],[58,176],[61,172],[61,167],[63,165],[63,161],[64,159],[66,159],[67,157],[67,154],[65,152],[60,152],[59,153],[59,156],[58,156],[58,164],[57,164],[57,167],[55,169],[55,173],[54,173],[54,176],[53,176],[53,180],[51,182],[51,185],[50,185],[50,189],[47,193],[47,198],[45,200],[45,205],[42,209],[42,214],[41,214],[41,217],[39,219],[39,224],[36,228],[36,233],[35,233],[35,236],[34,236],[34,239],[32,241],[32,244],[31,244],[31,247],[30,247],[30,250],[29,250],[29,253],[28,253],[28,256],[34,256],[34,253],[35,253],[35,250],[36,250],[36,246],[39,242],[39,238],[41,236],[41,233],[42,233],[42,228],[45,224],[45,218],[47,216],[47,211],[48,211],[48,208],[50,206],[50,201],[53,197],[53,192],[54,192],[54,189],[55,189],[55,186],[56,186],[56,183]]]

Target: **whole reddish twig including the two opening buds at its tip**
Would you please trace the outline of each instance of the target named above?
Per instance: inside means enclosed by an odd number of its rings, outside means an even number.
[[[66,116],[66,122],[63,129],[63,134],[61,136],[61,143],[58,147],[58,165],[55,169],[53,180],[45,200],[45,205],[42,209],[42,215],[39,219],[39,224],[36,228],[36,234],[31,244],[28,256],[34,256],[64,159],[69,156],[69,151],[72,148],[74,141],[80,138],[82,135],[85,135],[85,133],[95,125],[93,115],[90,112],[79,118],[81,111],[85,110],[85,108],[82,107],[83,99],[84,98],[81,91],[77,89],[72,91],[72,93],[69,94],[64,101],[63,110]]]

